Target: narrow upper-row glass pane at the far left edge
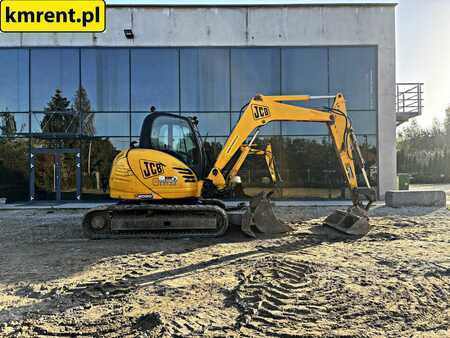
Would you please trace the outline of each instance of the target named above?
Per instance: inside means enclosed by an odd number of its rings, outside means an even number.
[[[28,111],[28,50],[0,50],[0,111]]]

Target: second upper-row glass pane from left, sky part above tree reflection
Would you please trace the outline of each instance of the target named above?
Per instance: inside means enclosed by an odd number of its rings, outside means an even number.
[[[57,91],[72,101],[80,83],[79,50],[36,48],[31,49],[30,53],[31,109],[46,110]]]

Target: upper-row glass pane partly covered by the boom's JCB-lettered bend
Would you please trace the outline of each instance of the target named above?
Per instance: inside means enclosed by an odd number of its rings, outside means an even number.
[[[256,94],[280,94],[279,48],[231,50],[231,109],[239,111]]]

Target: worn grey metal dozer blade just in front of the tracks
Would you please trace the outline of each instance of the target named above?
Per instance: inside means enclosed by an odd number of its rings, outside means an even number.
[[[291,231],[292,228],[289,225],[275,216],[269,199],[272,193],[273,191],[261,192],[250,201],[254,225],[256,229],[266,234],[282,234]]]

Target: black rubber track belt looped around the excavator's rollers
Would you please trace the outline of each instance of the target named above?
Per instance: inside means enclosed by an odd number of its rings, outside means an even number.
[[[195,222],[195,214],[199,212],[211,212],[221,219],[220,227],[215,230],[139,230],[139,231],[120,231],[112,232],[102,231],[95,232],[89,226],[90,218],[96,213],[104,213],[108,217],[108,224],[111,224],[111,219],[117,213],[133,213],[134,211],[155,210],[155,211],[169,211],[173,213],[182,213],[188,217],[192,217],[192,222]],[[83,218],[83,232],[85,236],[90,239],[125,239],[125,238],[159,238],[159,239],[176,239],[176,238],[205,238],[222,236],[228,229],[228,216],[224,209],[215,205],[113,205],[98,207],[89,210]]]

